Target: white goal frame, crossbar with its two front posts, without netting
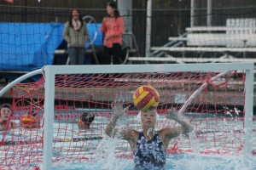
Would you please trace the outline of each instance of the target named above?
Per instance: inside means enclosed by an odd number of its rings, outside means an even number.
[[[46,65],[44,67],[44,152],[43,169],[52,167],[53,123],[55,102],[55,75],[90,73],[133,73],[163,71],[246,71],[245,99],[245,141],[244,151],[251,155],[253,144],[253,63],[211,63],[211,64],[165,64],[165,65]],[[47,133],[46,133],[47,132]]]

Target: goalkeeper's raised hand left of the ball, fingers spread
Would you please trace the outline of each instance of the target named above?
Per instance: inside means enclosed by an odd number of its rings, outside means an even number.
[[[113,116],[122,116],[128,111],[130,105],[124,108],[125,99],[121,98],[121,94],[118,94],[114,102],[112,103],[111,107],[113,109]]]

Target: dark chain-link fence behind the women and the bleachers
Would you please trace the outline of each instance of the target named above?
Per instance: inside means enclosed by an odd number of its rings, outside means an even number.
[[[147,1],[132,1],[129,25],[136,37],[140,54],[145,55],[146,30],[151,29],[151,46],[162,46],[168,37],[177,37],[191,26],[226,26],[228,19],[256,18],[255,0],[177,0],[152,1],[152,26],[146,23]],[[192,2],[192,4],[191,4]],[[84,15],[91,15],[101,23],[106,15],[107,1],[15,1],[0,3],[0,22],[66,22],[72,8],[79,8]],[[209,5],[211,3],[211,5]],[[194,8],[191,8],[193,6]],[[191,9],[194,14],[191,15]],[[126,23],[127,24],[127,23]]]

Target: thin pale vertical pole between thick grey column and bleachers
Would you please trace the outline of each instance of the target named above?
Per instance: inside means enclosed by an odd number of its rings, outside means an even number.
[[[150,54],[150,37],[151,37],[151,16],[152,16],[152,0],[147,2],[147,21],[146,21],[146,57]]]

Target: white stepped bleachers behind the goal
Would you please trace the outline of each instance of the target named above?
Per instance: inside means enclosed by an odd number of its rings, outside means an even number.
[[[228,19],[226,26],[195,26],[186,28],[185,36],[169,37],[172,46],[152,47],[155,52],[165,52],[165,57],[129,58],[130,61],[155,62],[255,62],[247,58],[247,53],[256,52],[255,19]],[[177,46],[177,43],[179,44]],[[167,54],[167,52],[182,53],[182,57]],[[200,58],[187,58],[187,53],[200,54]],[[204,58],[204,53],[220,54],[218,57]],[[242,53],[242,58],[236,58],[234,53]]]

